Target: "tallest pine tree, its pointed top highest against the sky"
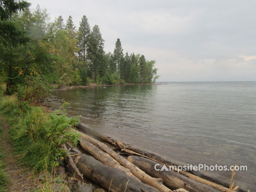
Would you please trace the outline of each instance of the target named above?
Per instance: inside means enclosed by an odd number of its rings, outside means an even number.
[[[86,68],[86,49],[88,48],[90,40],[90,25],[85,15],[82,17],[82,21],[80,22],[77,39],[79,47],[78,55],[82,58],[84,68]]]

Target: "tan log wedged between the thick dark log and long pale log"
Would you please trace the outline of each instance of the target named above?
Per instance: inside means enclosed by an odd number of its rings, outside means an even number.
[[[96,146],[91,144],[90,142],[82,139],[80,141],[80,145],[85,152],[92,155],[96,160],[102,162],[105,165],[118,168],[118,169],[126,172],[126,174],[128,176],[131,176],[134,179],[138,180],[138,178],[136,178],[130,170],[121,166],[120,163],[118,163],[116,160],[114,160],[110,155],[106,154],[105,152],[103,152],[102,150],[100,150],[99,148],[97,148]]]

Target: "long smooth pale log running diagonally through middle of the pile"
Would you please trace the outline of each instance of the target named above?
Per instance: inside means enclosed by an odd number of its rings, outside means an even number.
[[[124,157],[120,156],[116,152],[114,152],[112,149],[108,148],[105,144],[102,142],[99,142],[98,140],[81,133],[81,136],[86,141],[94,144],[100,150],[104,151],[105,153],[109,154],[112,158],[114,158],[117,162],[119,162],[122,166],[129,169],[132,174],[134,174],[139,180],[142,182],[158,189],[160,192],[172,192],[172,190],[168,189],[166,186],[163,185],[163,180],[160,178],[152,178],[148,174],[146,174],[144,171],[140,170],[138,167],[136,167],[134,164],[126,160]]]

